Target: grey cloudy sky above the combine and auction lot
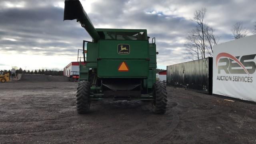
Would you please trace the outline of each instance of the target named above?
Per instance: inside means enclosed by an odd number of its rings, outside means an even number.
[[[156,37],[158,68],[189,61],[184,42],[195,27],[194,11],[207,9],[205,22],[220,42],[232,40],[242,21],[252,35],[255,0],[80,0],[95,28],[147,29]],[[0,0],[0,70],[64,68],[76,61],[82,40],[90,40],[75,20],[63,21],[64,0]]]

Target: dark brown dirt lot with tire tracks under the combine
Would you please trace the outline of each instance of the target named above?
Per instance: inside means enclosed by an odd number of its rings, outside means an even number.
[[[256,104],[168,87],[168,111],[137,101],[76,113],[74,82],[0,84],[0,143],[256,144]]]

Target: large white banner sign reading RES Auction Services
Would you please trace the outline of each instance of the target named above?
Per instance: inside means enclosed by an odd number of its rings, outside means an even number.
[[[256,102],[256,35],[213,50],[213,94]]]

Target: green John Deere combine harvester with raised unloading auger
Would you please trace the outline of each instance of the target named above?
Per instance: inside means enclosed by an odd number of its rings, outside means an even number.
[[[94,28],[79,0],[65,0],[64,20],[74,19],[92,37],[83,42],[77,112],[88,112],[94,100],[142,100],[155,114],[164,114],[167,92],[156,82],[155,38],[149,43],[143,29]]]

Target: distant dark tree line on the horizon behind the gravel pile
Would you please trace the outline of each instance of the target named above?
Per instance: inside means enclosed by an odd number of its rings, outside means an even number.
[[[11,74],[11,70],[1,70],[1,72],[4,72],[4,74]],[[51,76],[63,76],[63,71],[62,70],[44,70],[44,69],[39,69],[39,70],[22,70],[22,68],[16,69],[16,74],[44,74],[44,75],[51,75]]]

